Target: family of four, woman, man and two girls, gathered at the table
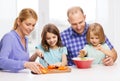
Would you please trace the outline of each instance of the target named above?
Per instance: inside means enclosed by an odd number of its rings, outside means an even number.
[[[35,28],[38,16],[33,9],[21,10],[16,18],[13,30],[5,34],[0,41],[0,69],[18,72],[30,69],[41,73],[39,67],[47,64],[55,66],[72,66],[72,58],[85,51],[87,57],[94,58],[94,64],[111,66],[117,59],[117,53],[105,36],[99,23],[88,24],[86,16],[80,7],[72,7],[67,11],[69,28],[63,32],[54,24],[46,24],[41,34],[41,43],[29,57],[28,36]],[[35,62],[39,57],[39,63]]]

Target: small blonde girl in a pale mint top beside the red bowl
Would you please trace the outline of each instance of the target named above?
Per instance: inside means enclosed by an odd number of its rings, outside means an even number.
[[[113,53],[107,44],[105,44],[105,34],[99,23],[89,25],[86,39],[88,44],[80,51],[81,57],[87,55],[87,57],[94,58],[94,64],[100,64],[106,56],[113,56]]]

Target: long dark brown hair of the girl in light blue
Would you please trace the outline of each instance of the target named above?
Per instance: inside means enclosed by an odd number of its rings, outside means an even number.
[[[49,23],[44,26],[42,34],[41,34],[41,37],[42,37],[41,45],[42,45],[43,49],[45,51],[49,51],[49,47],[50,47],[46,41],[47,32],[57,35],[58,36],[57,46],[62,47],[62,41],[60,38],[60,32],[59,32],[58,28],[54,24]]]

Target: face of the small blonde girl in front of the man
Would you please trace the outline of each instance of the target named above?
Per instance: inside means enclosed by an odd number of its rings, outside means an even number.
[[[93,46],[97,46],[100,43],[100,39],[97,35],[94,35],[93,32],[90,32],[90,43]]]

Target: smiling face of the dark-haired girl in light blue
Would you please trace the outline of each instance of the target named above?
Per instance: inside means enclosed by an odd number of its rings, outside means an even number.
[[[56,44],[58,42],[58,36],[53,33],[47,32],[46,41],[50,45],[51,48],[54,48],[57,46]]]

